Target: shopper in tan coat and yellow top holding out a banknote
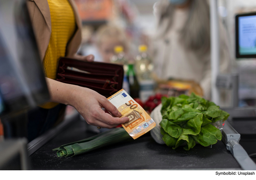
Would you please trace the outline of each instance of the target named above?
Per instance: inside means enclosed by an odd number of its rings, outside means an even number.
[[[41,135],[63,119],[65,105],[73,106],[88,124],[113,128],[129,119],[97,92],[56,81],[60,57],[94,61],[94,56],[80,56],[82,22],[73,0],[27,0],[27,7],[44,67],[51,102],[28,112],[28,140]],[[105,108],[112,115],[105,113]]]

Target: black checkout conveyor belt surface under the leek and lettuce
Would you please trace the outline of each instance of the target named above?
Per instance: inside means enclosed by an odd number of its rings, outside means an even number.
[[[52,149],[94,135],[85,132],[79,120],[30,156],[32,169],[240,169],[222,141],[212,148],[196,145],[186,151],[157,144],[150,133],[137,140],[87,152],[75,157],[57,157]]]

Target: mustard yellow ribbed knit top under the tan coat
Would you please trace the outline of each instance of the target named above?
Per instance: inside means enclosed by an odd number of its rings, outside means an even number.
[[[52,34],[43,59],[45,77],[56,79],[58,60],[64,57],[66,46],[76,28],[75,15],[68,0],[47,0],[51,13]],[[54,108],[58,103],[47,102],[40,107]]]

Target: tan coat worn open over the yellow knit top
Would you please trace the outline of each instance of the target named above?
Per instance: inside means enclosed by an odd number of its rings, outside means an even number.
[[[82,22],[78,14],[77,7],[73,0],[69,0],[69,2],[73,7],[77,28],[73,37],[67,44],[67,57],[71,57],[77,52],[82,39]],[[49,5],[47,0],[27,0],[27,7],[34,30],[35,39],[37,41],[40,58],[41,61],[43,61],[52,33]]]

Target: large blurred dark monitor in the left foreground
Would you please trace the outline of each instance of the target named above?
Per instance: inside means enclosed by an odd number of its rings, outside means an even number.
[[[0,115],[48,99],[26,0],[0,0]]]

